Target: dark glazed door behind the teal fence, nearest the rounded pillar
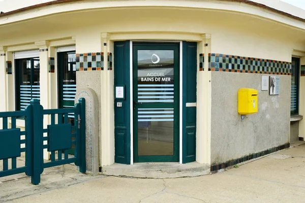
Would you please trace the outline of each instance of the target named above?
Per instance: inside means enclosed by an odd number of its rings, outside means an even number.
[[[61,109],[73,108],[76,94],[76,54],[75,51],[59,52],[58,59],[58,107]],[[74,125],[74,113],[68,115],[69,123]],[[72,138],[74,141],[74,138]],[[74,154],[75,146],[68,150]]]

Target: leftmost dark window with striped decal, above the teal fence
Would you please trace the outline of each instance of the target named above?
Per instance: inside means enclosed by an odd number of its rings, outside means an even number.
[[[32,98],[40,99],[39,58],[15,60],[16,111],[24,110]]]

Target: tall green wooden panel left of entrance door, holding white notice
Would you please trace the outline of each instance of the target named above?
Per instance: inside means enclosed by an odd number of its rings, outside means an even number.
[[[130,41],[114,42],[114,56],[114,86],[126,88],[125,99],[114,99],[114,161],[130,164]]]

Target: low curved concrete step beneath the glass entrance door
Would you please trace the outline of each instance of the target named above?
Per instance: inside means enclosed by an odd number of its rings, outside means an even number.
[[[102,167],[102,175],[132,177],[132,178],[182,178],[203,176],[210,173],[210,165],[191,162],[179,164],[166,163],[136,163],[133,165],[114,163]]]

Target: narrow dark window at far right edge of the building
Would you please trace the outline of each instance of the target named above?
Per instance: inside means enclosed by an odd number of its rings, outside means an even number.
[[[291,101],[290,115],[298,115],[300,59],[292,57],[291,61]]]

